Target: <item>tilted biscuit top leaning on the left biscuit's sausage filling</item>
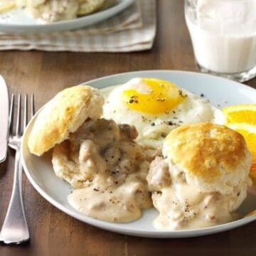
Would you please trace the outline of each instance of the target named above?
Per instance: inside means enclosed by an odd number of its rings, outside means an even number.
[[[102,114],[103,98],[100,91],[78,85],[67,88],[53,97],[38,114],[28,138],[31,153],[44,152],[68,139],[86,119],[98,119]]]

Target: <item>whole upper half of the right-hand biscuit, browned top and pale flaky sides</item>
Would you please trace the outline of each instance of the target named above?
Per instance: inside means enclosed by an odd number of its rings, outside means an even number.
[[[208,192],[230,193],[247,178],[251,163],[242,135],[210,123],[171,131],[164,140],[163,155],[183,169],[188,183]]]

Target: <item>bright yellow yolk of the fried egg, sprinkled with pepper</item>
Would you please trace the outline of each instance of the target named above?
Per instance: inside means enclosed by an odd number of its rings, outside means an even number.
[[[187,95],[171,82],[154,78],[142,78],[149,92],[140,93],[134,89],[122,92],[122,101],[131,110],[148,114],[167,113],[179,105]]]

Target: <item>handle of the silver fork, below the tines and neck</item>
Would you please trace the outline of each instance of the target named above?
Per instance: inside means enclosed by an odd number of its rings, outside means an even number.
[[[28,224],[22,200],[22,164],[21,154],[16,150],[14,183],[11,200],[1,228],[0,241],[5,243],[20,243],[29,239]]]

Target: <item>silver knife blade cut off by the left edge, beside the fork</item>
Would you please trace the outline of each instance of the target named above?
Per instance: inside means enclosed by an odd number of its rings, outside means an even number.
[[[9,95],[6,82],[0,75],[0,163],[6,159],[9,134]]]

